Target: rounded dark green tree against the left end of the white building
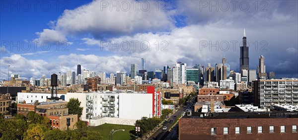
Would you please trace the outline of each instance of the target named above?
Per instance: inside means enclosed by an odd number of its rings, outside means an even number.
[[[67,103],[66,107],[69,109],[69,114],[77,114],[78,116],[82,115],[83,107],[80,107],[80,101],[78,99],[71,98]]]

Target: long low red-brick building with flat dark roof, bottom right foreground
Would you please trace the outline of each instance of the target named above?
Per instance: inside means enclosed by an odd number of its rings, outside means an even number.
[[[208,115],[208,117],[207,117]],[[297,140],[295,112],[193,112],[179,120],[179,140]]]

